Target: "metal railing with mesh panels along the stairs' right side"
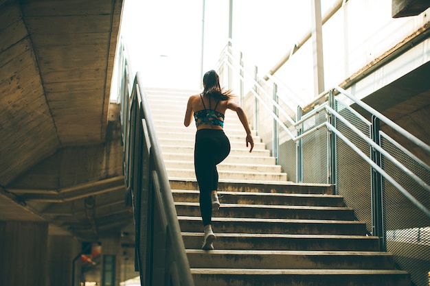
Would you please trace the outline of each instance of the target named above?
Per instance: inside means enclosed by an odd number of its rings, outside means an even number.
[[[218,73],[239,90],[253,129],[271,141],[289,180],[334,184],[368,233],[380,238],[381,250],[393,252],[420,285],[427,274],[418,261],[429,261],[430,254],[411,256],[409,250],[430,246],[430,167],[411,150],[428,156],[429,145],[339,86],[310,104],[299,102],[288,88],[278,88],[284,84],[275,76],[259,79],[257,68],[247,71],[231,44]]]

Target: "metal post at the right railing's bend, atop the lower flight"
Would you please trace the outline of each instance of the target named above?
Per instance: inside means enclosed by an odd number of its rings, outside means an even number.
[[[335,91],[331,90],[330,93],[328,94],[328,105],[330,106],[330,108],[332,108],[333,110],[336,110],[336,102],[335,102]],[[328,123],[333,126],[334,128],[336,128],[336,117],[335,115],[329,114],[328,115]],[[336,134],[333,134],[333,132],[330,132],[330,130],[327,131],[328,132],[328,136],[329,136],[329,147],[328,147],[328,160],[330,160],[329,162],[329,166],[328,166],[328,183],[331,184],[332,186],[334,186],[334,190],[333,190],[333,194],[337,193],[337,189],[336,189],[336,172],[337,172],[337,164],[336,164]]]

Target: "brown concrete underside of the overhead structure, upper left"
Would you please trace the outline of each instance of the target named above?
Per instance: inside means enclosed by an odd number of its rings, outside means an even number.
[[[0,209],[97,239],[133,222],[109,104],[122,0],[0,0]]]

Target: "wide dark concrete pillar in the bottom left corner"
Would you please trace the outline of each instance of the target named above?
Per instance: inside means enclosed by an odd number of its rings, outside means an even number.
[[[46,222],[0,222],[0,285],[47,285]]]

